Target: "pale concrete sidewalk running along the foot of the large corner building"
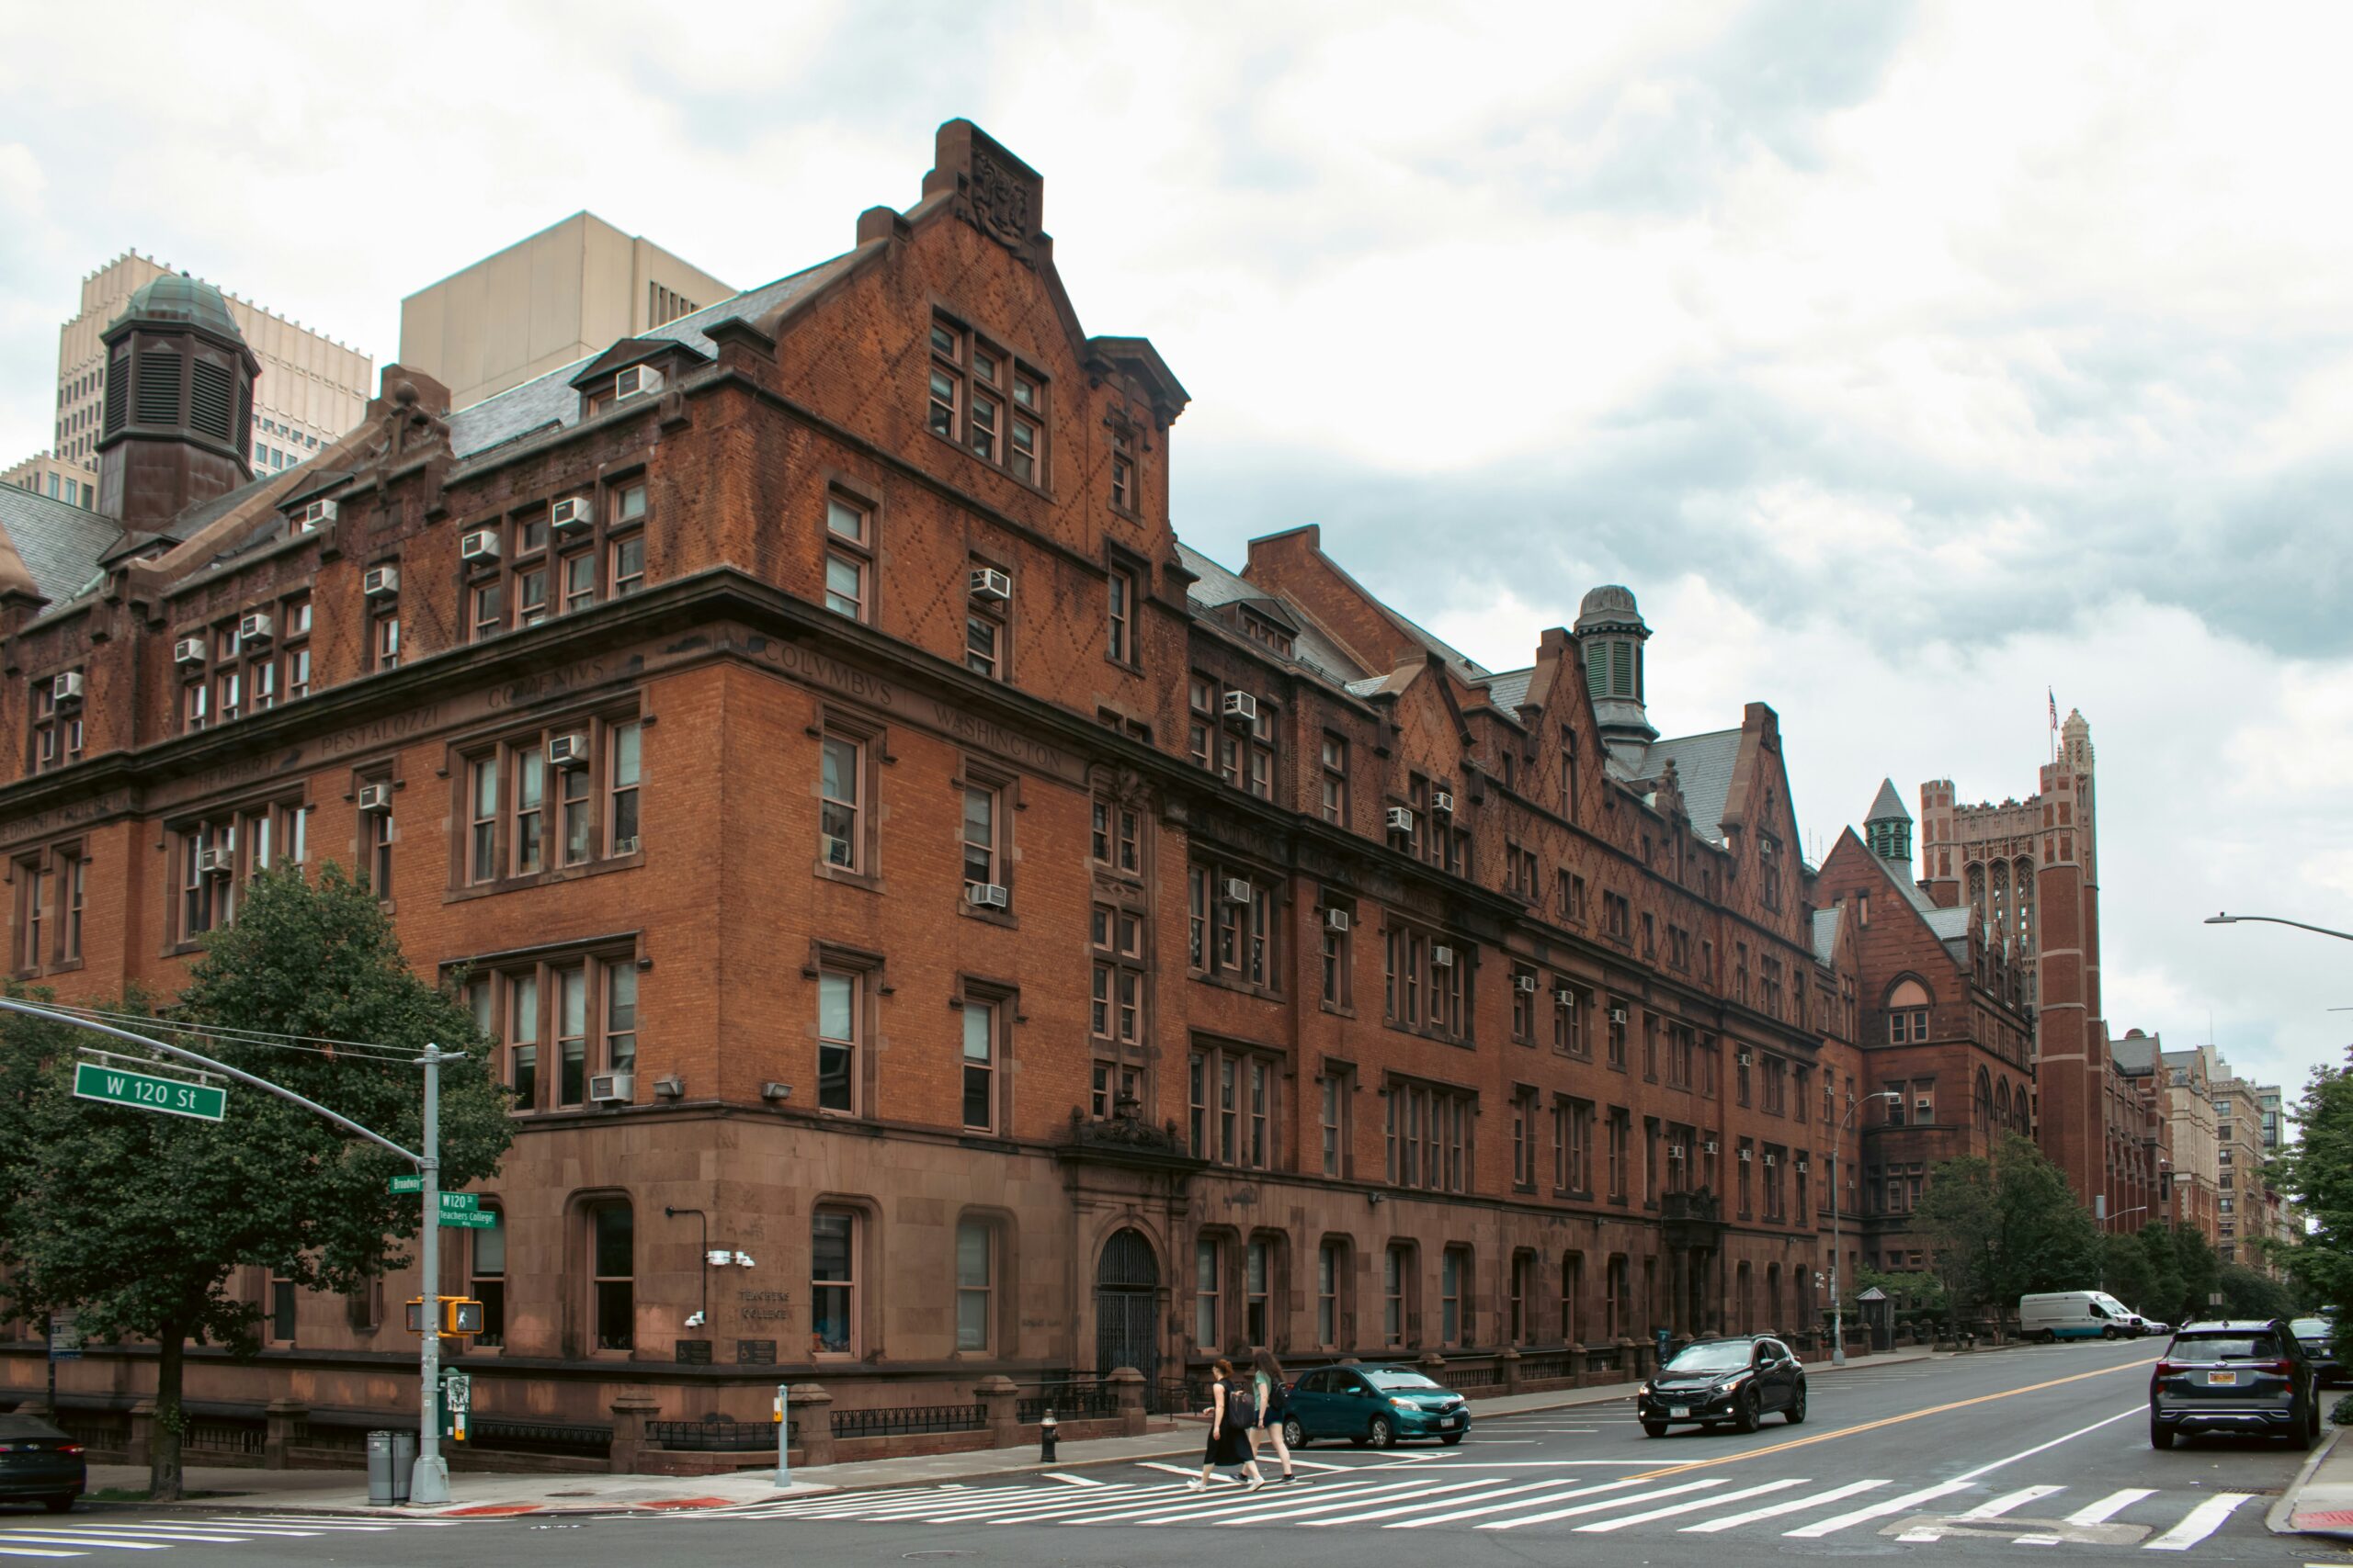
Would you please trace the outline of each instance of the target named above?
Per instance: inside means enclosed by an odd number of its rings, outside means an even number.
[[[1873,1366],[1897,1366],[1927,1361],[1934,1352],[1894,1349],[1854,1361],[1845,1371]],[[1939,1354],[1939,1359],[1948,1359]],[[1838,1378],[1840,1368],[1828,1361],[1805,1368],[1807,1378]],[[1527,1410],[1560,1410],[1567,1406],[1609,1403],[1633,1399],[1633,1382],[1612,1382],[1591,1389],[1553,1389],[1546,1394],[1508,1394],[1480,1399],[1471,1406],[1473,1420],[1497,1415],[1522,1415]],[[713,1509],[741,1502],[772,1502],[800,1493],[824,1490],[871,1490],[882,1486],[922,1486],[939,1481],[979,1481],[988,1476],[1012,1476],[1040,1469],[1080,1469],[1087,1465],[1132,1465],[1136,1460],[1165,1460],[1172,1455],[1193,1458],[1200,1453],[1200,1422],[1179,1420],[1174,1427],[1146,1432],[1144,1436],[1104,1436],[1082,1443],[1061,1443],[1054,1462],[1038,1460],[1035,1448],[981,1448],[976,1453],[934,1453],[906,1460],[856,1460],[849,1465],[800,1467],[791,1486],[776,1486],[772,1469],[746,1469],[732,1476],[501,1476],[482,1472],[459,1472],[449,1476],[454,1502],[438,1509],[367,1505],[367,1476],[351,1469],[212,1469],[191,1467],[186,1488],[191,1493],[216,1493],[191,1497],[176,1507],[209,1509],[259,1509],[271,1514],[395,1514],[402,1519],[496,1519],[508,1514],[612,1514],[656,1509]],[[2344,1507],[2353,1507],[2353,1458],[2346,1465]],[[127,1465],[92,1465],[89,1490],[146,1488],[146,1472]]]

